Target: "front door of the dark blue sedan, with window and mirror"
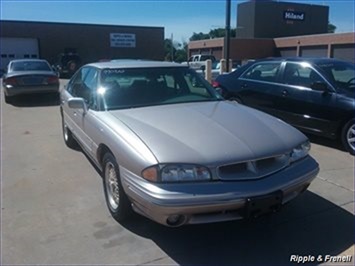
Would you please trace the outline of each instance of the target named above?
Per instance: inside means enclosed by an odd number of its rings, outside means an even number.
[[[285,62],[282,72],[283,101],[278,108],[285,121],[314,133],[335,131],[337,97],[331,84],[305,62]],[[317,83],[324,84],[326,91],[316,89]]]

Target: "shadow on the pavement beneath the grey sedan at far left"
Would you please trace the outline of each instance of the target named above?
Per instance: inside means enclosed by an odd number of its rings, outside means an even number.
[[[18,95],[9,104],[16,107],[57,106],[59,95],[57,93]]]

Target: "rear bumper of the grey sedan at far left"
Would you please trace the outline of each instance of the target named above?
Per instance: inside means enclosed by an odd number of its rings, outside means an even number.
[[[6,96],[16,96],[20,94],[32,94],[32,93],[59,92],[59,83],[50,84],[50,85],[31,85],[31,86],[5,85],[3,87]]]

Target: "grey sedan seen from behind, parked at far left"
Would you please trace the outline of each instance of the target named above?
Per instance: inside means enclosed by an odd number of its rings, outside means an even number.
[[[19,94],[59,92],[59,79],[43,59],[10,61],[2,83],[6,103]]]

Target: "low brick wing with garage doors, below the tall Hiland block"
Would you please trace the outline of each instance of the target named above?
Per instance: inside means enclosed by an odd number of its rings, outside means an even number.
[[[223,38],[190,42],[189,54],[212,53],[217,59],[223,58]],[[265,57],[334,57],[354,62],[355,35],[331,33],[305,35],[275,39],[239,39],[230,41],[230,58],[234,61],[259,59]],[[216,56],[216,52],[220,51]]]

